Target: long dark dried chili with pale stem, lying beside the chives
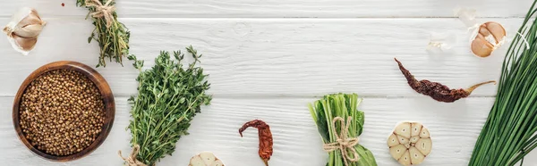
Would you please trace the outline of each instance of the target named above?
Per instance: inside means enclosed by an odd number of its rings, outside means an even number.
[[[422,79],[420,81],[418,81],[417,79],[414,79],[410,71],[406,70],[405,67],[403,67],[403,64],[397,61],[396,58],[394,59],[399,65],[399,70],[401,70],[401,72],[403,72],[403,75],[405,75],[406,81],[408,82],[408,85],[410,87],[412,87],[416,92],[423,94],[423,95],[429,95],[431,98],[439,102],[452,103],[458,99],[465,98],[468,95],[472,94],[472,91],[477,87],[480,87],[484,84],[489,84],[489,83],[496,84],[496,81],[490,80],[490,81],[473,85],[472,87],[469,87],[466,89],[464,88],[450,89],[449,87],[442,85],[438,82],[430,82],[429,80],[426,80],[426,79]]]

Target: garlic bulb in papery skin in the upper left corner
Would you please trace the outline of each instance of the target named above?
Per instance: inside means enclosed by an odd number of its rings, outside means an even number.
[[[41,20],[35,9],[23,7],[13,14],[4,32],[13,49],[27,55],[36,45],[39,33],[45,24],[46,22]]]

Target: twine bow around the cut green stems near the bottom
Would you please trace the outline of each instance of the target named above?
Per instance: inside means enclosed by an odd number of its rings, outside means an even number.
[[[343,161],[345,163],[345,166],[349,165],[348,163],[349,161],[358,162],[358,160],[360,160],[360,156],[358,156],[358,153],[354,149],[354,145],[358,145],[358,141],[360,141],[360,138],[347,137],[347,132],[351,125],[351,120],[353,120],[353,118],[350,116],[347,118],[346,123],[345,123],[345,119],[341,117],[334,118],[334,120],[332,120],[332,132],[336,134],[336,142],[323,145],[323,149],[328,153],[336,151],[336,150],[341,151],[341,154],[343,154]],[[339,121],[339,124],[341,126],[339,133],[337,133],[337,128],[336,128],[337,121]],[[353,154],[352,157],[347,152],[347,149],[350,149],[351,154]]]

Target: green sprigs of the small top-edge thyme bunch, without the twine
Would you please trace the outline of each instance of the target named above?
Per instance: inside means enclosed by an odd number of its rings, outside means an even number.
[[[108,1],[113,0],[98,0],[101,4],[107,4]],[[111,2],[109,5],[113,6],[115,2]],[[100,56],[98,58],[98,64],[96,67],[107,67],[107,60],[110,62],[115,61],[123,66],[124,56],[129,55],[129,37],[131,32],[125,27],[125,25],[117,21],[117,13],[112,12],[113,21],[110,27],[107,27],[107,21],[104,17],[92,17],[91,13],[96,12],[96,7],[88,6],[86,0],[77,0],[76,5],[85,7],[90,10],[86,19],[91,17],[95,29],[88,37],[88,43],[91,40],[98,42],[100,47]]]

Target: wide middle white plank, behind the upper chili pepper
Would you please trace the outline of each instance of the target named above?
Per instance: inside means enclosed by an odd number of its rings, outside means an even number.
[[[13,96],[24,77],[47,62],[69,60],[93,66],[93,29],[81,19],[47,19],[49,23],[28,56],[0,39],[0,95]],[[0,19],[0,24],[6,22]],[[417,79],[448,87],[469,87],[499,79],[505,48],[488,58],[470,52],[467,30],[456,19],[124,19],[132,30],[131,53],[153,64],[160,50],[192,45],[204,56],[210,93],[217,96],[320,96],[360,92],[366,96],[421,96],[405,82],[397,57]],[[521,19],[503,23],[513,37]],[[65,27],[69,27],[68,30]],[[446,33],[456,42],[452,54],[430,55],[430,33]],[[183,49],[184,50],[184,49]],[[115,95],[136,93],[138,75],[131,63],[98,68]],[[479,87],[472,96],[495,95],[495,86]]]

